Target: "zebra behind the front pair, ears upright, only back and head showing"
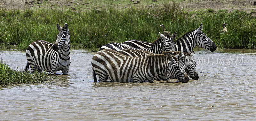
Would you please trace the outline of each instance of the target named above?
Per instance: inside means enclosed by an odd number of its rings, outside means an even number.
[[[161,54],[165,51],[173,51],[173,48],[175,47],[175,43],[173,42],[173,40],[176,38],[177,33],[172,34],[170,38],[167,38],[166,36],[164,36],[164,34],[161,34],[160,32],[159,34],[161,37],[157,38],[156,41],[151,44],[150,48],[144,48],[139,50],[145,50],[156,54]],[[129,48],[119,43],[108,43],[100,48],[100,50],[103,49],[113,49],[116,51],[120,51],[121,49],[134,48]]]

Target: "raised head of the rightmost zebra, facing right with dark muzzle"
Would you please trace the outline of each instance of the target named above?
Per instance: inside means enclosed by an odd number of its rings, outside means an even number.
[[[215,51],[217,49],[217,46],[212,40],[204,34],[203,30],[203,23],[199,26],[199,28],[196,30],[196,36],[197,36],[197,46],[202,47],[204,49],[208,49],[211,52]]]

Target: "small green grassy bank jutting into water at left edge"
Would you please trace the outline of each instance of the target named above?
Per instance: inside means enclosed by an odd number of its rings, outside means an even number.
[[[44,73],[35,72],[29,74],[24,71],[14,70],[3,61],[0,61],[0,87],[26,83],[44,83],[45,81],[53,81],[53,78]]]

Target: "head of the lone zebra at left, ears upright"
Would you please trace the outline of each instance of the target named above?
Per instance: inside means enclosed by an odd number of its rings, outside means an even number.
[[[60,31],[60,33],[57,36],[56,42],[52,46],[52,49],[54,51],[58,51],[63,47],[69,47],[69,44],[70,44],[68,24],[66,23],[63,28],[60,27],[59,24],[57,24],[57,29]]]

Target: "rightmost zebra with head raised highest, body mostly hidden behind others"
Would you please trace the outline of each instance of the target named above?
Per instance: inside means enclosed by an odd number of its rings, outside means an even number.
[[[216,44],[204,34],[202,29],[203,24],[201,23],[198,29],[191,30],[186,34],[182,35],[182,37],[175,41],[174,51],[181,51],[190,54],[196,46],[208,49],[211,52],[215,51],[217,49]],[[121,44],[126,47],[137,49],[149,48],[151,45],[151,43],[137,40],[128,40]]]

